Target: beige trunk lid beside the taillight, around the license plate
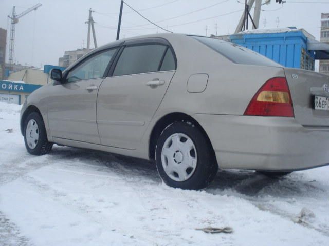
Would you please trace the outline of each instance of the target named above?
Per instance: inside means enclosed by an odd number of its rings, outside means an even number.
[[[329,111],[313,108],[314,96],[329,97],[323,85],[329,76],[313,71],[284,68],[296,120],[304,126],[329,126]]]

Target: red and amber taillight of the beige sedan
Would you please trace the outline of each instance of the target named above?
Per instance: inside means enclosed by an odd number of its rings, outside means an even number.
[[[244,115],[294,117],[286,78],[268,80],[253,96]]]

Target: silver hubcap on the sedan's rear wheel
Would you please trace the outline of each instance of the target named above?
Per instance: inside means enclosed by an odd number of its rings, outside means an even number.
[[[175,133],[167,138],[161,151],[163,170],[173,180],[188,180],[197,165],[196,148],[192,139],[184,133]]]

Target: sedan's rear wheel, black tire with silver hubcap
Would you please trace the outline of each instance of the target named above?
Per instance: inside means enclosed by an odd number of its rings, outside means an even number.
[[[189,122],[174,122],[162,131],[155,150],[161,179],[170,187],[199,190],[218,171],[215,153],[204,133]]]

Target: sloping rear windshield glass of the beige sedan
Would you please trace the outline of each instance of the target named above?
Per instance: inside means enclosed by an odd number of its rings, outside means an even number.
[[[233,63],[281,67],[281,65],[275,61],[272,61],[271,59],[240,45],[210,37],[191,37],[225,56],[229,60],[233,61]]]

